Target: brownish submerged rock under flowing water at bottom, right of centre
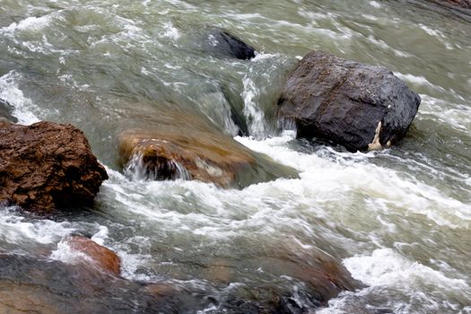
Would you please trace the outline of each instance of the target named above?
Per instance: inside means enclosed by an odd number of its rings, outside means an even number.
[[[340,292],[362,288],[344,266],[320,249],[293,251],[288,242],[233,252],[231,259],[217,259],[202,269],[203,278],[222,289],[234,285],[220,298],[222,313],[308,313]],[[262,249],[263,248],[263,249]],[[242,249],[243,251],[243,249]],[[247,254],[249,253],[249,254]],[[252,282],[256,271],[257,281]],[[219,312],[219,311],[218,311]]]

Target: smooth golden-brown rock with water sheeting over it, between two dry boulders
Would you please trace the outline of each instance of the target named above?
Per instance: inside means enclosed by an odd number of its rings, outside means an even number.
[[[297,176],[295,170],[251,152],[203,118],[161,113],[155,119],[158,122],[119,135],[120,161],[140,178],[196,179],[229,188]]]

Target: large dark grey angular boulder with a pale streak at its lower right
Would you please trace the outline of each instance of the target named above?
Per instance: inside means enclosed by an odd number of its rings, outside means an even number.
[[[354,152],[396,144],[420,101],[384,67],[313,51],[289,78],[278,116],[293,120],[299,137],[318,137]]]

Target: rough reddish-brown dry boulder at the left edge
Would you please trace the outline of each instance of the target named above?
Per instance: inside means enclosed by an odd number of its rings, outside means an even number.
[[[49,211],[92,204],[106,170],[70,125],[0,122],[0,202]]]

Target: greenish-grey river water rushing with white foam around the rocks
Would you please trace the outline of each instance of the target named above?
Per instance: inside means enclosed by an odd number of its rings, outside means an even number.
[[[205,53],[216,27],[257,57]],[[110,179],[85,214],[0,207],[0,249],[66,261],[57,243],[84,232],[118,252],[128,279],[197,285],[219,300],[264,283],[305,309],[302,283],[260,258],[320,249],[365,283],[320,313],[471,313],[469,34],[467,17],[420,1],[1,0],[0,98],[21,123],[82,128]],[[278,131],[276,98],[312,49],[387,66],[421,94],[401,144],[346,153]],[[251,135],[237,140],[298,179],[222,189],[119,168],[118,132],[144,116],[193,112],[236,136],[231,109]]]

